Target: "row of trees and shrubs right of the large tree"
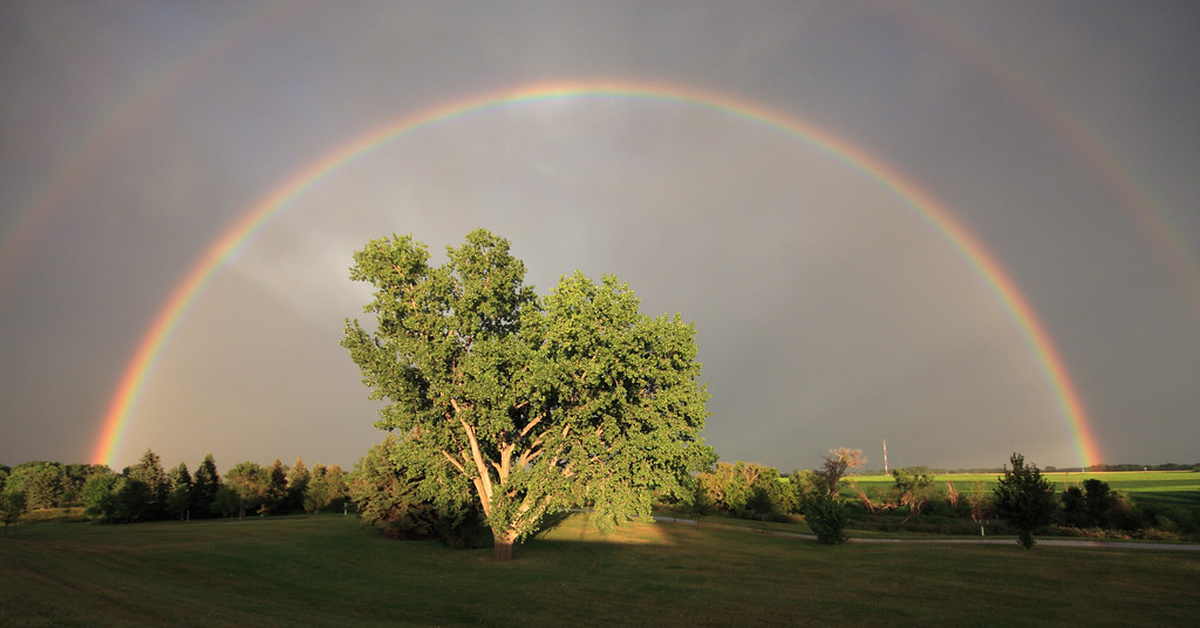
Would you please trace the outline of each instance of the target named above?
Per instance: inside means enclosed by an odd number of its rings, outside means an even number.
[[[696,476],[695,496],[682,512],[743,519],[805,521],[826,542],[842,530],[971,534],[1034,532],[1093,538],[1188,540],[1200,538],[1200,510],[1184,503],[1134,500],[1088,478],[1063,491],[1037,465],[1014,454],[997,471],[997,485],[937,482],[925,466],[892,469],[892,484],[863,488],[847,476],[864,466],[862,451],[833,449],[823,466],[782,474],[754,462],[718,462]],[[974,531],[974,532],[973,532]]]

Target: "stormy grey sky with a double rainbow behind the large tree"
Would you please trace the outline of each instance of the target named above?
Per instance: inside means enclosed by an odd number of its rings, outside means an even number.
[[[1198,462],[1198,28],[1189,1],[0,2],[0,462],[349,468],[383,437],[338,346],[353,252],[476,227],[540,294],[614,274],[692,322],[726,461]]]

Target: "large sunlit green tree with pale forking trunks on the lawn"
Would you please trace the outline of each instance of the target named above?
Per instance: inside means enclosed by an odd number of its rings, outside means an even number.
[[[689,492],[688,471],[710,460],[691,325],[643,316],[612,276],[575,273],[539,299],[484,229],[448,257],[432,265],[407,235],[358,251],[350,277],[374,286],[376,327],[347,321],[342,345],[390,402],[377,426],[444,461],[434,482],[469,482],[497,560],[547,512],[586,504],[611,527],[648,515],[654,490]]]

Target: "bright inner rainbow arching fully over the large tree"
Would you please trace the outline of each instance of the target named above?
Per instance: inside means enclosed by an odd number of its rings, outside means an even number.
[[[1069,425],[1079,460],[1093,465],[1100,460],[1097,438],[1084,403],[1067,372],[1058,349],[1038,319],[1033,307],[1018,289],[995,256],[966,226],[935,197],[859,146],[812,122],[784,114],[758,103],[730,95],[661,83],[629,80],[571,80],[539,83],[476,95],[403,115],[350,140],[301,168],[246,210],[196,261],[184,280],[172,291],[138,343],[133,359],[120,378],[116,393],[102,420],[91,460],[112,465],[125,436],[130,415],[146,378],[170,340],[172,333],[203,292],[214,274],[272,216],[313,185],[373,149],[420,128],[427,128],[484,109],[548,101],[620,98],[665,102],[719,112],[749,124],[780,131],[804,140],[827,155],[860,171],[902,199],[922,220],[941,234],[986,282],[1013,317],[1037,358]]]

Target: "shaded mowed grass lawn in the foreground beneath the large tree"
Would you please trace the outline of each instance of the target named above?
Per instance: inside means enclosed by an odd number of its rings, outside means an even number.
[[[0,534],[2,626],[1186,626],[1200,554],[823,546],[587,515],[517,549],[394,542],[353,516]]]

